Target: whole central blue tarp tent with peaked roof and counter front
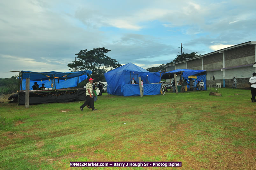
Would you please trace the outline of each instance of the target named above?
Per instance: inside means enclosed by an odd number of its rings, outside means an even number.
[[[107,91],[111,95],[139,96],[139,84],[131,84],[132,78],[139,82],[143,80],[144,95],[160,94],[161,72],[149,72],[135,64],[128,63],[104,74],[108,83]],[[159,84],[150,84],[159,83]]]

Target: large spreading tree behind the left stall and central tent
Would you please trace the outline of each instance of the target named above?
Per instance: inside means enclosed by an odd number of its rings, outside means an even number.
[[[89,51],[87,51],[87,49],[81,50],[79,53],[75,54],[77,55],[78,60],[68,64],[68,67],[70,67],[69,70],[91,70],[92,74],[94,74],[93,78],[96,79],[96,81],[103,81],[103,74],[107,72],[107,69],[112,70],[121,66],[117,60],[106,56],[106,53],[110,51],[111,50],[108,50],[105,47],[93,48]]]

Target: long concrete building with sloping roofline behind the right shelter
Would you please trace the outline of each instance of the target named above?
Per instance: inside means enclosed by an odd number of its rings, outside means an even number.
[[[232,87],[233,77],[237,79],[238,88],[249,88],[249,78],[256,72],[256,41],[249,41],[192,59],[165,66],[166,71],[178,68],[206,70],[207,85],[214,75],[221,87]]]

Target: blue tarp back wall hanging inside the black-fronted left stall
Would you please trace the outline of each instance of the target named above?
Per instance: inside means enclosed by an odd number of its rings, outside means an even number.
[[[87,75],[79,76],[78,83],[82,82],[83,80],[86,80],[87,77],[88,77]],[[49,81],[49,78],[48,78],[48,80],[43,80],[43,81],[32,81],[32,80],[30,80],[29,81],[29,89],[30,90],[33,90],[32,86],[34,85],[34,82],[37,82],[37,84],[39,85],[39,88],[42,87],[42,84],[45,84],[46,88],[52,88],[52,86],[51,86],[52,85],[52,80],[50,79],[50,81]],[[22,89],[21,89],[21,86],[20,86],[20,90],[25,90],[26,89],[26,79],[23,79],[21,81],[21,83],[22,83]],[[58,83],[58,79],[55,79],[55,84],[56,84],[56,89],[76,87],[77,86],[77,77],[67,79],[66,81],[65,80],[60,80],[59,83]],[[54,87],[54,80],[53,80],[53,87]]]

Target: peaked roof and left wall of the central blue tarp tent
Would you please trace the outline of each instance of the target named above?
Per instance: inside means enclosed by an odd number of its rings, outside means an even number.
[[[160,82],[160,72],[151,73],[141,67],[138,67],[132,63],[125,64],[104,74],[108,83],[108,93],[111,95],[124,95],[121,87],[125,84],[131,84],[131,77],[137,82],[139,77],[143,80],[144,84]],[[138,79],[137,79],[138,77]],[[124,86],[123,86],[124,88]],[[124,89],[125,90],[125,89]],[[144,89],[145,91],[145,89]]]

